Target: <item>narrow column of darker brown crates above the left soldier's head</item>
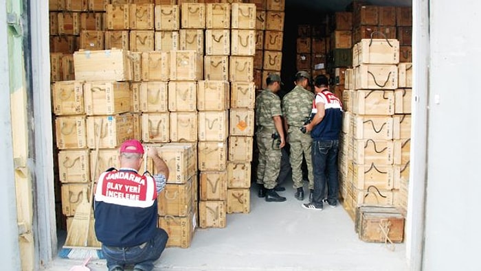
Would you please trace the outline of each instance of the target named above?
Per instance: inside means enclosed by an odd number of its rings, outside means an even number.
[[[254,83],[256,91],[259,92],[267,87],[265,80],[270,73],[280,75],[285,0],[250,0],[246,2],[255,5]]]

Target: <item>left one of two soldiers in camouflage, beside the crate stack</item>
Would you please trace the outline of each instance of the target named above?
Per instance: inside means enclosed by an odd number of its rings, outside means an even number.
[[[267,77],[267,89],[256,97],[256,141],[259,150],[257,166],[257,183],[260,193],[265,189],[265,200],[268,202],[283,202],[274,190],[280,169],[280,149],[286,144],[282,130],[282,112],[280,98],[276,93],[282,84],[280,76],[271,74]]]

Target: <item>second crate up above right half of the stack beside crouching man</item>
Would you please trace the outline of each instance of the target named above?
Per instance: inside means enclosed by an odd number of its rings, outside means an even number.
[[[170,81],[168,82],[168,110],[196,111],[197,110],[197,82]]]

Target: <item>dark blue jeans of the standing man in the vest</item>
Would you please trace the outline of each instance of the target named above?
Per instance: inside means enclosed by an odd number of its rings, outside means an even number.
[[[312,160],[314,173],[313,204],[322,207],[322,198],[327,185],[327,200],[331,205],[337,204],[339,180],[337,172],[337,155],[339,140],[313,141]]]

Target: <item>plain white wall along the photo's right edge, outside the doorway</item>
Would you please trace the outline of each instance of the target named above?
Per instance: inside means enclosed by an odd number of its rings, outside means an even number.
[[[480,270],[481,2],[430,1],[423,270]]]

